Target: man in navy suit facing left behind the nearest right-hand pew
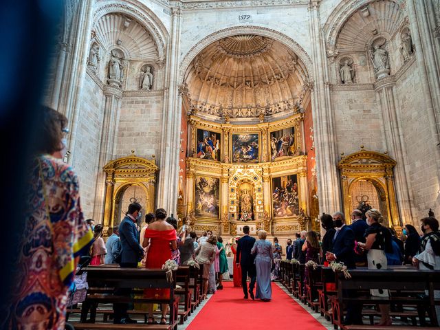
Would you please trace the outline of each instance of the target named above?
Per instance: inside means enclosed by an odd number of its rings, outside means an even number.
[[[333,214],[333,223],[336,233],[333,236],[333,248],[327,252],[327,261],[337,261],[344,263],[347,268],[355,268],[355,233],[349,225],[345,224],[344,213],[336,212]],[[344,290],[344,295],[349,298],[355,298],[356,292],[353,290]],[[351,303],[347,307],[344,325],[362,325],[362,305]]]

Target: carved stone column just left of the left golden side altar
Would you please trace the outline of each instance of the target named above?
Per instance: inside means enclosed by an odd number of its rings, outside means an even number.
[[[120,105],[122,99],[122,91],[118,87],[104,85],[103,90],[105,96],[104,117],[102,119],[100,147],[97,151],[98,155],[98,173],[96,175],[96,191],[94,203],[94,219],[107,220],[104,216],[104,196],[105,190],[105,173],[102,168],[113,159],[115,154],[115,137],[118,135],[118,119],[120,114]]]

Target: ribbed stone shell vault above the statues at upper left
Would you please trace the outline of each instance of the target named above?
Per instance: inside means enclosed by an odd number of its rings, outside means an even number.
[[[107,14],[95,26],[96,36],[102,46],[111,50],[120,45],[129,53],[129,59],[157,57],[157,47],[150,34],[134,19],[122,14]]]

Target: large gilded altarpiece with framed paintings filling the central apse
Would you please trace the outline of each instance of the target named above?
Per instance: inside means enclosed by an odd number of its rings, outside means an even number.
[[[186,214],[197,232],[223,236],[265,229],[306,229],[304,113],[256,124],[210,122],[188,115]]]

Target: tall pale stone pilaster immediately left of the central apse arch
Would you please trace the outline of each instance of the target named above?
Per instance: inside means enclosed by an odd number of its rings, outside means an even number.
[[[181,10],[171,8],[173,15],[168,70],[162,120],[162,151],[160,155],[159,188],[157,206],[165,208],[168,214],[176,213],[177,186],[179,183],[179,146],[181,124],[181,97],[178,95],[179,45],[181,30]]]

